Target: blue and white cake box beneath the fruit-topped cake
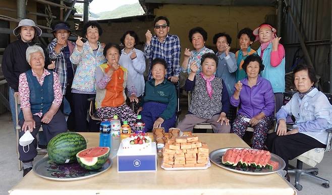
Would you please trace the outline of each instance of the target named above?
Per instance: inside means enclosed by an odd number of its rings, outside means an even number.
[[[157,170],[157,147],[151,143],[150,150],[130,151],[123,149],[122,143],[118,150],[118,172],[139,172]]]

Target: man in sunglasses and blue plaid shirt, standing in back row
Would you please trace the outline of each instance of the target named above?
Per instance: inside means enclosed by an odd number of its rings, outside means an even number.
[[[146,43],[144,47],[144,55],[149,59],[150,65],[154,58],[165,59],[168,68],[166,78],[171,82],[179,81],[180,67],[180,39],[177,35],[168,34],[170,31],[170,21],[159,16],[154,20],[154,32],[147,30],[145,33]],[[148,80],[152,79],[151,70],[149,70]]]

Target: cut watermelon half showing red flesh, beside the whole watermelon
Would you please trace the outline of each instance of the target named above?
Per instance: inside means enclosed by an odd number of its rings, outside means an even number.
[[[76,154],[77,162],[85,169],[100,169],[108,159],[109,147],[93,147]]]

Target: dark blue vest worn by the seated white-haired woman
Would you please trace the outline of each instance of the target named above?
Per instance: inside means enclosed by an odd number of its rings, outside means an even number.
[[[38,112],[45,114],[51,107],[54,100],[53,72],[48,72],[50,75],[47,75],[44,78],[42,86],[40,86],[37,78],[32,75],[32,70],[25,72],[30,90],[30,106],[32,114]],[[19,118],[23,118],[22,112],[20,113]]]

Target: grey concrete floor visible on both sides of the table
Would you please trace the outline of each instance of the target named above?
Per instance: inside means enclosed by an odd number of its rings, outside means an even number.
[[[181,115],[183,118],[185,112]],[[16,155],[16,139],[10,113],[0,115],[0,148],[3,158],[0,158],[0,195],[8,194],[8,190],[14,187],[22,179],[22,171],[18,171],[18,161]],[[39,155],[36,160],[42,156]],[[295,162],[295,161],[294,161]],[[319,176],[332,182],[332,152],[325,153],[324,159],[317,165],[320,169]],[[294,183],[294,176],[291,175],[291,183]],[[303,177],[300,182],[303,186],[298,194],[331,194],[330,188],[324,188],[318,181]],[[328,192],[329,191],[329,192]]]

